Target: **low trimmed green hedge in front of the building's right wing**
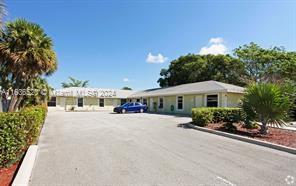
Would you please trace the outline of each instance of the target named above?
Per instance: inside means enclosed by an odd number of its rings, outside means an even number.
[[[242,120],[242,109],[229,107],[203,107],[192,109],[192,122],[198,126],[208,123],[239,122]]]

